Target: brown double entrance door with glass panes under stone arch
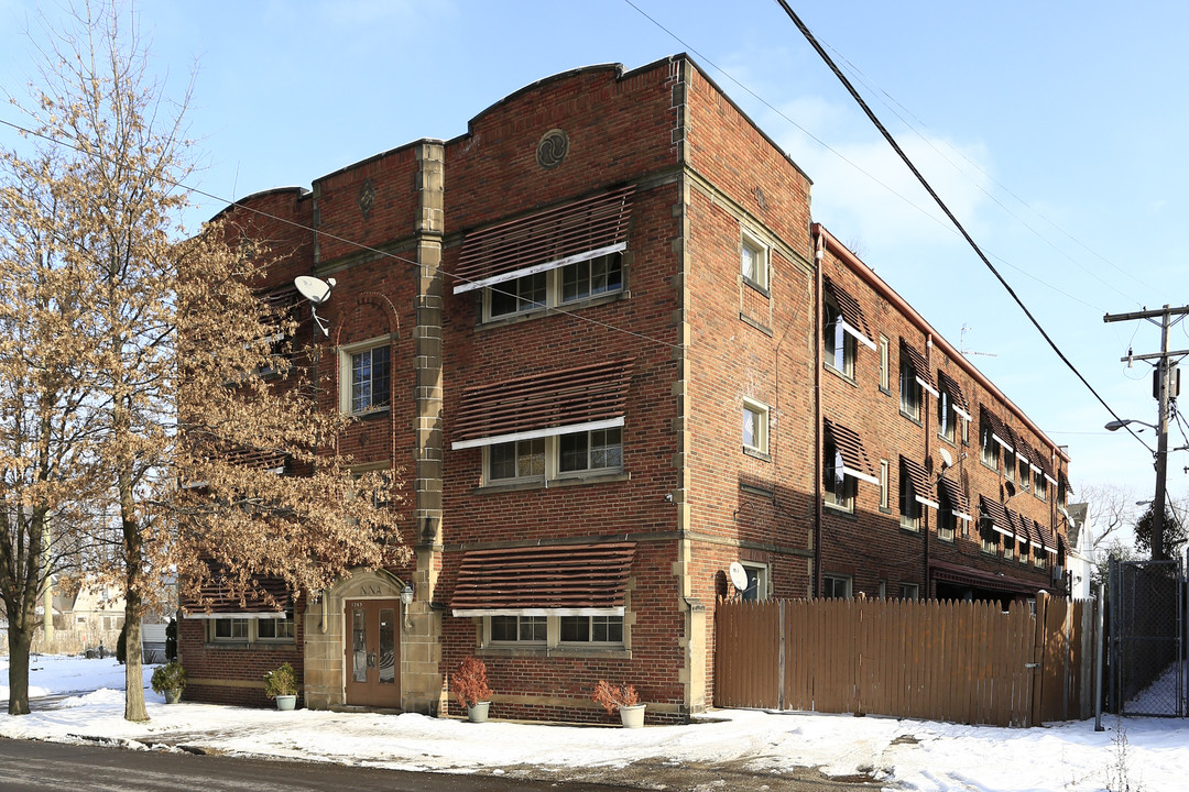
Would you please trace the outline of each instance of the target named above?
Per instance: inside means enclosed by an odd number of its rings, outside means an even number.
[[[356,707],[401,705],[400,600],[348,600],[346,696]]]

